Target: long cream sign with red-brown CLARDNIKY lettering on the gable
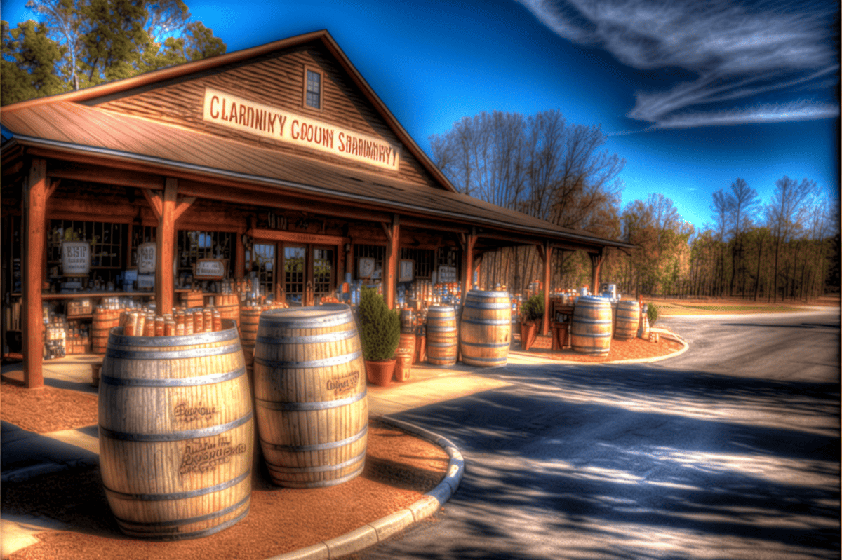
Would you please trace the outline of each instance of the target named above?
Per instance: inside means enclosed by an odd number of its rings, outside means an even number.
[[[210,87],[205,87],[202,119],[392,171],[401,162],[400,148],[386,140]]]

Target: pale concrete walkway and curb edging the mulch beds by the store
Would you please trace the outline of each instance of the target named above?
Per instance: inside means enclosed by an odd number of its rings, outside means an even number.
[[[677,356],[687,350],[686,342],[679,335],[667,330],[653,329],[683,345],[679,351],[665,357],[626,360],[622,362],[655,362]],[[588,363],[566,362],[541,356],[541,352],[522,351],[513,343],[507,365],[576,363],[587,367]],[[92,363],[102,361],[101,356],[85,354],[69,356],[44,362],[44,383],[48,387],[64,388],[97,394],[91,385]],[[602,362],[605,363],[605,362]],[[614,362],[612,362],[614,363]],[[367,388],[370,417],[396,425],[425,440],[442,447],[450,457],[445,478],[433,490],[405,510],[373,521],[345,535],[320,542],[312,547],[275,556],[267,560],[322,560],[335,558],[370,547],[408,526],[433,515],[450,496],[456,492],[465,470],[461,452],[445,437],[425,430],[418,425],[393,419],[390,415],[426,404],[458,399],[493,388],[509,385],[504,381],[487,378],[480,373],[486,369],[467,366],[457,362],[453,366],[432,366],[427,362],[413,364],[410,378],[402,383],[392,382],[387,387],[369,385]],[[0,371],[4,380],[22,381],[21,364],[3,366]],[[37,389],[34,389],[37,390]],[[96,425],[75,430],[54,431],[36,434],[17,425],[2,421],[0,433],[0,483],[16,483],[47,473],[56,473],[73,468],[83,468],[99,462],[99,439]],[[13,552],[38,543],[35,537],[45,531],[61,531],[65,527],[56,520],[32,515],[3,515],[0,517],[3,558]]]

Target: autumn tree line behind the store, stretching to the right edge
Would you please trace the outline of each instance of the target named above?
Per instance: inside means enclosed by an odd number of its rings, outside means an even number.
[[[481,113],[429,140],[461,193],[634,245],[607,248],[602,263],[602,282],[621,293],[777,301],[839,291],[839,203],[810,179],[782,177],[763,203],[737,178],[713,193],[712,223],[696,231],[663,194],[621,208],[625,161],[601,149],[599,126],[568,124],[558,111]],[[543,266],[535,247],[504,248],[483,256],[479,283],[526,293]],[[551,267],[553,287],[594,290],[584,251],[553,251]]]

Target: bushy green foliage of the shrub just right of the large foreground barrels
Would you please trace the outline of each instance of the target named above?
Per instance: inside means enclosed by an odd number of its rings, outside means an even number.
[[[374,288],[360,290],[360,344],[363,358],[370,361],[391,360],[401,342],[401,317]]]

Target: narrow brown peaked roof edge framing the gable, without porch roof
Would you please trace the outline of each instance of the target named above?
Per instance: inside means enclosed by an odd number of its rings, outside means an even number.
[[[401,143],[406,146],[408,151],[410,151],[410,153],[412,153],[413,156],[421,162],[424,169],[429,172],[429,174],[432,175],[437,182],[440,182],[444,188],[456,193],[457,190],[450,180],[445,177],[445,174],[442,173],[432,161],[430,161],[429,156],[427,156],[427,154],[424,153],[424,150],[415,143],[413,137],[410,136],[402,127],[395,118],[395,115],[393,115],[389,108],[386,107],[386,104],[383,103],[381,98],[377,96],[368,82],[365,82],[365,78],[362,77],[360,71],[351,64],[348,56],[346,56],[342,49],[339,48],[339,45],[335,40],[333,40],[333,37],[328,33],[327,29],[297,35],[296,37],[290,37],[289,39],[273,41],[250,49],[237,50],[224,55],[211,56],[210,58],[205,58],[200,61],[192,61],[178,66],[170,66],[168,68],[162,68],[161,70],[147,72],[145,74],[141,74],[140,76],[125,78],[123,80],[109,82],[99,86],[88,87],[75,92],[58,93],[44,98],[35,98],[19,103],[13,103],[0,109],[0,113],[14,112],[24,108],[34,108],[61,101],[93,104],[96,103],[98,99],[110,98],[115,94],[130,92],[133,89],[149,87],[153,84],[168,82],[180,77],[187,77],[191,74],[213,70],[215,68],[220,68],[221,66],[248,61],[249,59],[258,58],[259,56],[266,55],[277,50],[285,50],[290,47],[306,45],[307,43],[312,42],[320,43],[331,53],[331,55],[333,55],[339,65],[342,66],[344,71],[348,73],[354,84],[360,88],[360,91],[363,93],[367,101],[376,109],[381,118],[386,121],[386,124],[389,125],[392,132],[394,132],[397,136],[397,139],[400,140]]]

